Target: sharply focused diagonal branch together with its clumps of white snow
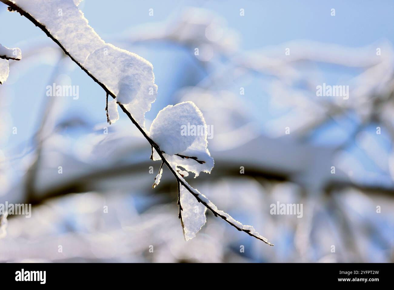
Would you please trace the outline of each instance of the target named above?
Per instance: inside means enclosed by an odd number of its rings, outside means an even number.
[[[164,164],[178,183],[179,217],[186,240],[193,238],[205,224],[205,211],[208,209],[237,230],[272,245],[252,226],[243,225],[228,213],[218,210],[206,196],[184,180],[185,174],[180,173],[178,166],[195,173],[197,177],[201,171],[209,173],[214,166],[207,148],[206,132],[202,136],[180,136],[179,128],[182,124],[206,126],[201,111],[194,103],[183,102],[165,107],[152,122],[150,131],[145,129],[144,115],[150,110],[157,93],[153,67],[147,60],[105,43],[87,24],[87,20],[72,0],[0,1],[9,6],[9,11],[17,11],[45,32],[73,62],[103,88],[107,97],[108,122],[115,122],[119,118],[119,105],[146,138],[152,147],[151,159],[162,161],[155,184],[160,181]],[[54,17],[54,13],[59,9],[64,12],[59,15],[63,19]],[[70,26],[71,23],[73,26]],[[114,100],[108,102],[108,95]],[[174,116],[177,116],[176,120]],[[192,163],[189,162],[190,159]]]

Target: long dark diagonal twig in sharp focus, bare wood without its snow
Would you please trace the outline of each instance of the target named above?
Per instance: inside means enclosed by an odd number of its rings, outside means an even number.
[[[57,45],[59,45],[59,47],[64,51],[64,53],[69,56],[71,58],[71,60],[73,62],[75,62],[89,77],[91,77],[91,79],[93,79],[95,82],[97,82],[97,84],[99,84],[104,91],[113,97],[113,99],[115,99],[116,95],[113,94],[113,92],[111,92],[102,82],[100,82],[99,80],[97,80],[82,64],[80,64],[75,58],[73,58],[71,56],[71,54],[63,47],[63,45],[54,37],[52,36],[52,34],[50,34],[49,30],[45,27],[45,25],[41,24],[40,22],[38,22],[36,19],[34,19],[34,17],[32,17],[32,15],[30,15],[29,13],[27,13],[26,11],[24,11],[22,8],[20,8],[19,6],[17,6],[15,3],[11,2],[10,0],[0,0],[0,2],[3,2],[4,4],[10,6],[8,8],[9,11],[17,11],[20,13],[20,15],[26,17],[27,19],[29,19],[33,24],[35,24],[35,26],[39,27],[43,32],[45,32],[45,34],[52,39]],[[132,117],[132,115],[130,114],[130,112],[128,112],[128,110],[126,110],[126,108],[120,104],[119,107],[123,110],[123,112],[125,112],[125,114],[128,116],[128,118],[131,120],[131,122],[137,127],[137,129],[142,133],[142,135],[145,137],[145,139],[147,139],[147,141],[149,142],[149,144],[151,144],[151,146],[156,150],[156,152],[159,154],[160,158],[162,159],[162,161],[165,163],[165,165],[167,165],[167,167],[169,168],[169,170],[172,172],[172,174],[175,176],[175,178],[177,179],[178,183],[180,183],[181,185],[183,185],[196,199],[198,202],[201,202],[202,204],[204,204],[204,206],[206,208],[208,208],[208,210],[212,211],[212,213],[216,216],[216,217],[221,217],[222,219],[224,219],[227,223],[229,223],[229,225],[234,226],[237,230],[239,231],[243,231],[245,233],[247,233],[249,236],[255,237],[256,239],[259,239],[261,241],[264,241],[264,243],[273,246],[271,243],[268,243],[267,241],[265,241],[264,239],[255,236],[254,234],[252,234],[250,232],[250,230],[245,230],[243,228],[239,228],[237,225],[235,225],[234,223],[232,223],[231,221],[227,220],[227,217],[225,217],[224,215],[221,215],[219,213],[217,213],[214,209],[212,209],[206,202],[204,202],[203,200],[201,200],[201,198],[199,197],[199,195],[197,193],[194,193],[194,191],[191,189],[190,185],[188,185],[187,183],[185,183],[177,174],[177,172],[175,172],[175,170],[171,167],[171,165],[169,164],[169,162],[167,161],[167,159],[165,159],[165,157],[163,156],[162,151],[160,150],[159,146],[147,135],[147,133],[145,132],[145,130],[136,122],[136,120],[134,120],[134,118]]]

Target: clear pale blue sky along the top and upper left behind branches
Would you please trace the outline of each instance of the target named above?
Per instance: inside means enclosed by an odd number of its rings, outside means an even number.
[[[349,47],[360,47],[387,39],[394,43],[394,1],[108,1],[85,0],[81,9],[89,24],[108,42],[114,42],[125,30],[147,22],[162,22],[174,17],[185,6],[198,6],[215,11],[224,17],[228,25],[240,34],[241,50],[261,49],[295,39],[309,39],[323,43],[336,43]],[[154,9],[154,17],[148,11]],[[240,8],[245,17],[240,17]],[[330,15],[335,8],[335,17]],[[51,40],[30,21],[17,13],[9,13],[0,4],[0,23],[6,29],[0,32],[0,41],[8,47],[20,47],[23,51],[32,44],[48,43]],[[166,45],[144,46],[116,45],[134,51],[154,65],[156,83],[159,87],[157,101],[153,104],[148,118],[154,118],[158,110],[167,105],[182,80],[184,64],[191,62],[185,51]],[[74,65],[69,60],[63,64]],[[52,65],[39,63],[16,72],[11,67],[9,82],[0,88],[0,94],[9,97],[9,113],[12,124],[6,129],[19,128],[19,136],[12,136],[8,145],[20,144],[27,140],[37,128],[37,120],[43,113],[45,86],[52,73]],[[63,68],[59,68],[62,73]],[[169,73],[170,72],[170,73]],[[204,75],[198,67],[191,72],[197,79]],[[332,74],[332,73],[331,73]],[[335,69],[334,69],[335,79]],[[80,69],[69,73],[73,84],[80,85],[80,101],[64,100],[67,114],[83,112],[93,123],[102,122],[104,92]],[[331,76],[332,77],[332,76]],[[186,85],[186,84],[185,84]],[[250,88],[259,93],[261,83]],[[255,99],[253,101],[258,101]],[[90,110],[86,111],[86,106]]]

